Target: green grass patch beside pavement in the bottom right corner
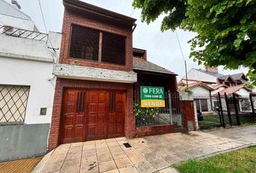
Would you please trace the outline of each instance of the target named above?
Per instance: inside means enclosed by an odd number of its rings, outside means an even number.
[[[256,146],[219,154],[200,161],[189,159],[174,167],[181,173],[256,172]]]

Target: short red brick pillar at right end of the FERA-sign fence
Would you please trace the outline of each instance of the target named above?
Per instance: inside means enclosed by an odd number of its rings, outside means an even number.
[[[182,100],[182,115],[184,118],[184,128],[187,128],[187,122],[192,121],[194,130],[196,130],[195,126],[195,111],[192,100]]]

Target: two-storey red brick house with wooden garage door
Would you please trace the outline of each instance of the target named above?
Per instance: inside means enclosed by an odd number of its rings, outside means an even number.
[[[49,149],[61,143],[174,132],[173,124],[135,127],[133,106],[140,86],[163,86],[172,93],[177,87],[176,74],[148,61],[146,50],[132,48],[136,19],[82,1],[63,4]],[[183,107],[193,128],[191,102]]]

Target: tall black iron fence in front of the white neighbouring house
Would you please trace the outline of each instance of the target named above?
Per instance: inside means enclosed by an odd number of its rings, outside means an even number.
[[[200,129],[231,127],[255,123],[255,100],[253,97],[237,97],[235,94],[194,94],[195,112]]]

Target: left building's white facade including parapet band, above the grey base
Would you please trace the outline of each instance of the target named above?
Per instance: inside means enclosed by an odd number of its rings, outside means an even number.
[[[52,38],[52,39],[51,39]],[[56,77],[52,74],[59,57],[61,34],[51,32],[51,43],[0,35],[0,84],[30,86],[25,123],[51,123]],[[51,47],[51,46],[50,46]],[[40,107],[47,107],[40,115]]]

